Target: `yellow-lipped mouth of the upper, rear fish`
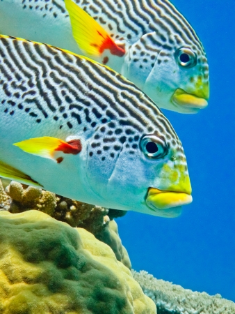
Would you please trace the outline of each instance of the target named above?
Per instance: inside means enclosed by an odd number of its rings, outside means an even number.
[[[180,106],[188,113],[196,113],[208,105],[205,98],[188,94],[186,91],[184,91],[184,89],[177,89],[172,95],[171,100],[174,105],[177,105],[177,107]]]

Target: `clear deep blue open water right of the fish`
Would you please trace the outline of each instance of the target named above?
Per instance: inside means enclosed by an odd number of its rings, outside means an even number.
[[[172,0],[200,36],[209,107],[165,111],[188,160],[193,203],[179,218],[129,212],[117,220],[133,269],[235,301],[235,1]]]

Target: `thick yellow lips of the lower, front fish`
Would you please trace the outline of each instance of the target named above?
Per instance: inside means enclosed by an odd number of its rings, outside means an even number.
[[[190,204],[193,197],[186,193],[171,192],[168,190],[159,190],[157,188],[149,188],[146,204],[151,209],[169,209]]]

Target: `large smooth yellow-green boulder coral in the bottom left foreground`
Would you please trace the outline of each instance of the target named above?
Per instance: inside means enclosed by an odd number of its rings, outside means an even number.
[[[1,211],[0,313],[154,314],[156,306],[90,232],[40,211]]]

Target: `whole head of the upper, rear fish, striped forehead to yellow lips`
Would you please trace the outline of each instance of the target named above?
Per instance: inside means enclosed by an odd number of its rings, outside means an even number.
[[[181,113],[199,112],[209,99],[204,47],[177,11],[163,15],[156,24],[154,31],[144,33],[131,47],[129,77],[159,107]]]

